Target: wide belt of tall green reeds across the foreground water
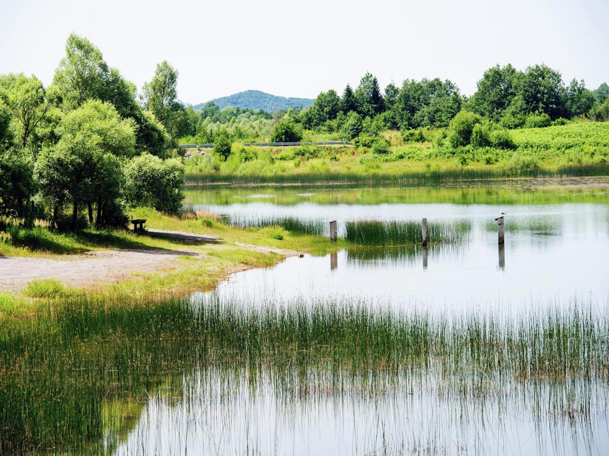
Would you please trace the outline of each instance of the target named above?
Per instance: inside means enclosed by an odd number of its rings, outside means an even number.
[[[244,375],[255,389],[265,378],[284,398],[384,394],[412,375],[470,399],[522,381],[606,385],[608,322],[581,303],[484,316],[365,300],[252,307],[213,295],[65,295],[32,318],[0,322],[0,452],[90,447],[107,426],[108,400],[138,402],[160,378],[210,367],[227,385]]]

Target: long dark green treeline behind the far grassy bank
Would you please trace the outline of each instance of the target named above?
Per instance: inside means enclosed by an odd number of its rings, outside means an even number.
[[[383,91],[378,79],[367,73],[356,88],[347,85],[342,94],[334,89],[321,92],[310,108],[290,108],[273,116],[234,106],[220,110],[213,102],[200,111],[188,107],[185,142],[211,143],[217,135],[228,135],[233,141],[297,140],[307,130],[352,140],[362,132],[445,128],[460,111],[505,129],[549,126],[579,117],[607,120],[608,97],[607,83],[594,91],[583,80],[566,84],[560,72],[544,64],[524,71],[511,64],[491,67],[471,97],[462,95],[452,81],[439,78],[407,79],[401,86],[390,83]],[[281,125],[282,132],[273,131],[273,125],[282,119],[292,125]]]

